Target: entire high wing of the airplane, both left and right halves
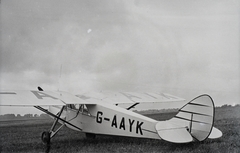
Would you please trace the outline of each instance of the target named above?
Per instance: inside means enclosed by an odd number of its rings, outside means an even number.
[[[129,110],[139,106],[139,104],[145,109],[154,109],[165,108],[165,105],[169,105],[170,102],[173,103],[172,106],[177,106],[177,103],[183,101],[184,99],[169,94],[150,92],[89,92],[80,95],[72,95],[63,91],[0,92],[0,106],[64,106],[66,104],[110,103]],[[159,107],[159,103],[163,105]]]

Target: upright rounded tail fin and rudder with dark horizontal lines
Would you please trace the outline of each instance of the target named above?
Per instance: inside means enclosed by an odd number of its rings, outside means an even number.
[[[171,122],[185,126],[189,133],[198,141],[210,135],[214,122],[215,107],[209,95],[201,95],[183,106]]]

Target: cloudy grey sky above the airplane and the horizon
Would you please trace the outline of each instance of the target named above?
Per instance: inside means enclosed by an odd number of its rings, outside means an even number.
[[[240,103],[238,0],[2,0],[0,90]],[[1,100],[1,99],[0,99]],[[30,109],[27,109],[30,111]],[[0,107],[0,114],[25,108]]]

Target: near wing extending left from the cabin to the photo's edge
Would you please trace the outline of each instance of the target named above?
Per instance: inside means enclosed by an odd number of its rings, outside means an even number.
[[[0,106],[93,104],[62,91],[1,91]],[[95,104],[95,103],[94,103]]]

